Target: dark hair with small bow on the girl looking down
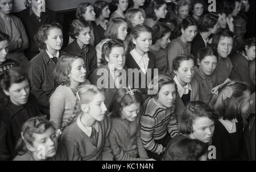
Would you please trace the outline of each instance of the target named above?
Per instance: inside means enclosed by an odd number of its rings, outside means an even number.
[[[130,89],[120,88],[109,104],[109,110],[112,112],[112,118],[121,117],[122,108],[129,106],[131,104],[140,104],[142,105],[142,93],[138,89],[131,89],[133,94],[131,94]]]

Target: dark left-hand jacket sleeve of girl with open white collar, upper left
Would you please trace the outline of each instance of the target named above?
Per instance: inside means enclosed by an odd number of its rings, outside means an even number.
[[[48,107],[49,97],[42,89],[42,69],[36,66],[34,63],[28,63],[28,78],[30,79],[31,92],[34,94],[38,100],[39,105]],[[52,88],[51,88],[52,89]]]

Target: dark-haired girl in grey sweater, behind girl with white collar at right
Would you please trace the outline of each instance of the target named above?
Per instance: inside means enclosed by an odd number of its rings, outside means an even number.
[[[191,16],[185,18],[181,23],[181,34],[168,45],[168,63],[170,73],[172,72],[172,61],[179,54],[191,54],[191,42],[197,34],[197,24]]]

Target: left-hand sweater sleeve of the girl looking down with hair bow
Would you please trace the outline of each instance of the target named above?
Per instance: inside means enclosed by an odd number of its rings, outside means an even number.
[[[109,134],[109,141],[113,151],[114,160],[117,161],[142,161],[142,158],[131,157],[129,153],[123,151],[121,147],[119,147],[117,143],[117,136],[115,135],[114,130],[112,130]]]

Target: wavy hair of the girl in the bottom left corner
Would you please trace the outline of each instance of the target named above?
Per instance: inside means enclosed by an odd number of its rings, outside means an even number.
[[[33,117],[28,119],[21,128],[22,136],[16,144],[15,151],[19,155],[27,153],[28,149],[26,145],[33,145],[33,141],[35,140],[34,134],[44,134],[44,132],[51,127],[55,130],[53,123],[49,122],[44,117]]]

